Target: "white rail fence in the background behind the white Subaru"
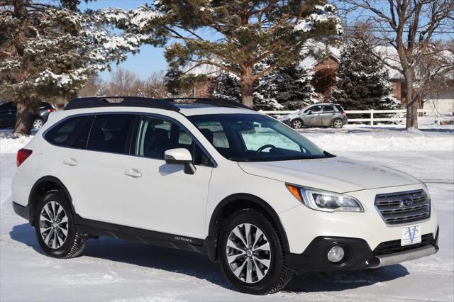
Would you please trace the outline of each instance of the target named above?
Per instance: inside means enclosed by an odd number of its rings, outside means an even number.
[[[268,115],[272,116],[284,116],[286,114],[290,113],[295,113],[297,111],[260,111],[261,113],[265,113]],[[401,109],[401,110],[345,110],[345,113],[347,114],[368,114],[369,118],[348,118],[348,123],[369,123],[370,125],[374,125],[376,122],[393,122],[393,121],[405,121],[405,116],[406,116],[406,110]],[[394,114],[394,117],[392,118],[375,118],[374,114],[377,113],[388,113],[388,114]],[[418,113],[423,113],[422,116],[424,116],[424,113],[428,113],[428,111],[425,111],[423,109],[418,109]]]

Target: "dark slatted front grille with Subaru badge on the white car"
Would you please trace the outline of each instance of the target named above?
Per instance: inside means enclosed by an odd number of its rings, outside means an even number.
[[[411,201],[405,205],[404,201]],[[409,191],[375,196],[375,206],[385,223],[398,225],[431,216],[431,199],[425,191]]]

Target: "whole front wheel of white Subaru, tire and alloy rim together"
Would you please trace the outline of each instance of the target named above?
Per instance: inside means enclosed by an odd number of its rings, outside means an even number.
[[[224,275],[238,291],[274,293],[292,279],[277,230],[254,209],[237,211],[227,219],[218,252]]]

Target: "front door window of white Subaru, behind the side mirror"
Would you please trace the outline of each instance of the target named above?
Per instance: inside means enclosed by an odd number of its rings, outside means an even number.
[[[135,142],[136,156],[164,160],[165,151],[175,148],[189,150],[194,164],[211,166],[209,157],[179,125],[152,116],[141,118]]]

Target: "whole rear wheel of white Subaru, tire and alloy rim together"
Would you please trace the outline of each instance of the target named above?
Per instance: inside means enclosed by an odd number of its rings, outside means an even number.
[[[60,191],[49,191],[35,211],[35,233],[46,255],[55,258],[79,256],[87,237],[77,233],[71,206]]]

